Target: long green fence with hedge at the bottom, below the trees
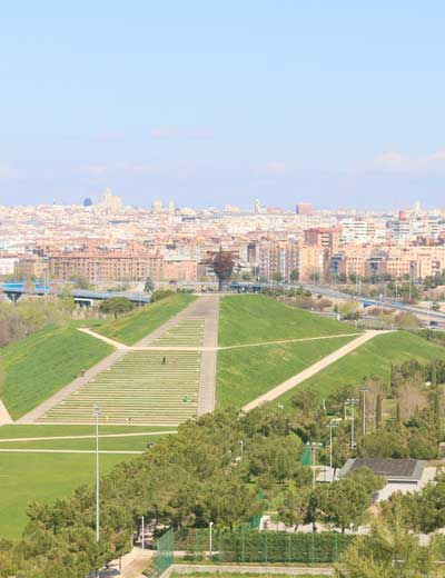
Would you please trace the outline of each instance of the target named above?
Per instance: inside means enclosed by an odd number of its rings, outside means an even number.
[[[208,529],[180,530],[175,536],[178,550],[189,560],[208,556]],[[239,530],[212,531],[212,559],[222,562],[301,562],[332,564],[350,544],[352,538],[335,532],[284,532]]]

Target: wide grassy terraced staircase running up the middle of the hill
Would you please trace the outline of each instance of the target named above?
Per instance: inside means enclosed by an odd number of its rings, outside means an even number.
[[[100,406],[100,423],[177,426],[196,416],[201,369],[204,319],[184,319],[150,346],[132,350],[38,419],[41,423],[91,423]]]

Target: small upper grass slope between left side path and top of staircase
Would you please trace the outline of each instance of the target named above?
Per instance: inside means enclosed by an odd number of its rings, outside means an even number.
[[[168,321],[196,299],[189,293],[175,293],[136,311],[101,325],[96,330],[111,339],[132,346],[155,329]]]

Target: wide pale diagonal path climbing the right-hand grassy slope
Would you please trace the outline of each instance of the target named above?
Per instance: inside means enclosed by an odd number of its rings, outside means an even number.
[[[289,391],[289,389],[293,389],[295,386],[298,386],[303,381],[306,381],[306,379],[309,379],[310,377],[315,376],[316,373],[322,371],[322,369],[325,369],[332,363],[335,363],[336,361],[342,359],[342,357],[347,356],[348,353],[357,349],[357,347],[360,347],[370,339],[373,339],[375,336],[388,332],[390,331],[366,331],[366,333],[362,335],[360,337],[357,337],[357,339],[354,339],[354,341],[346,343],[346,346],[340,347],[339,349],[324,357],[313,366],[304,369],[303,371],[287,379],[274,389],[270,389],[270,391],[268,391],[267,393],[264,393],[263,396],[254,399],[254,401],[250,401],[249,403],[244,406],[243,410],[250,411],[250,409],[254,409],[260,406],[261,403],[265,403],[266,401],[273,401],[277,397]]]

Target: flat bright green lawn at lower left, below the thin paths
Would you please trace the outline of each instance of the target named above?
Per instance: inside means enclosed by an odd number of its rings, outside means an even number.
[[[101,471],[108,474],[135,456],[102,455]],[[27,522],[26,509],[33,500],[52,501],[69,496],[81,485],[93,485],[93,455],[1,454],[0,538],[18,538]]]

